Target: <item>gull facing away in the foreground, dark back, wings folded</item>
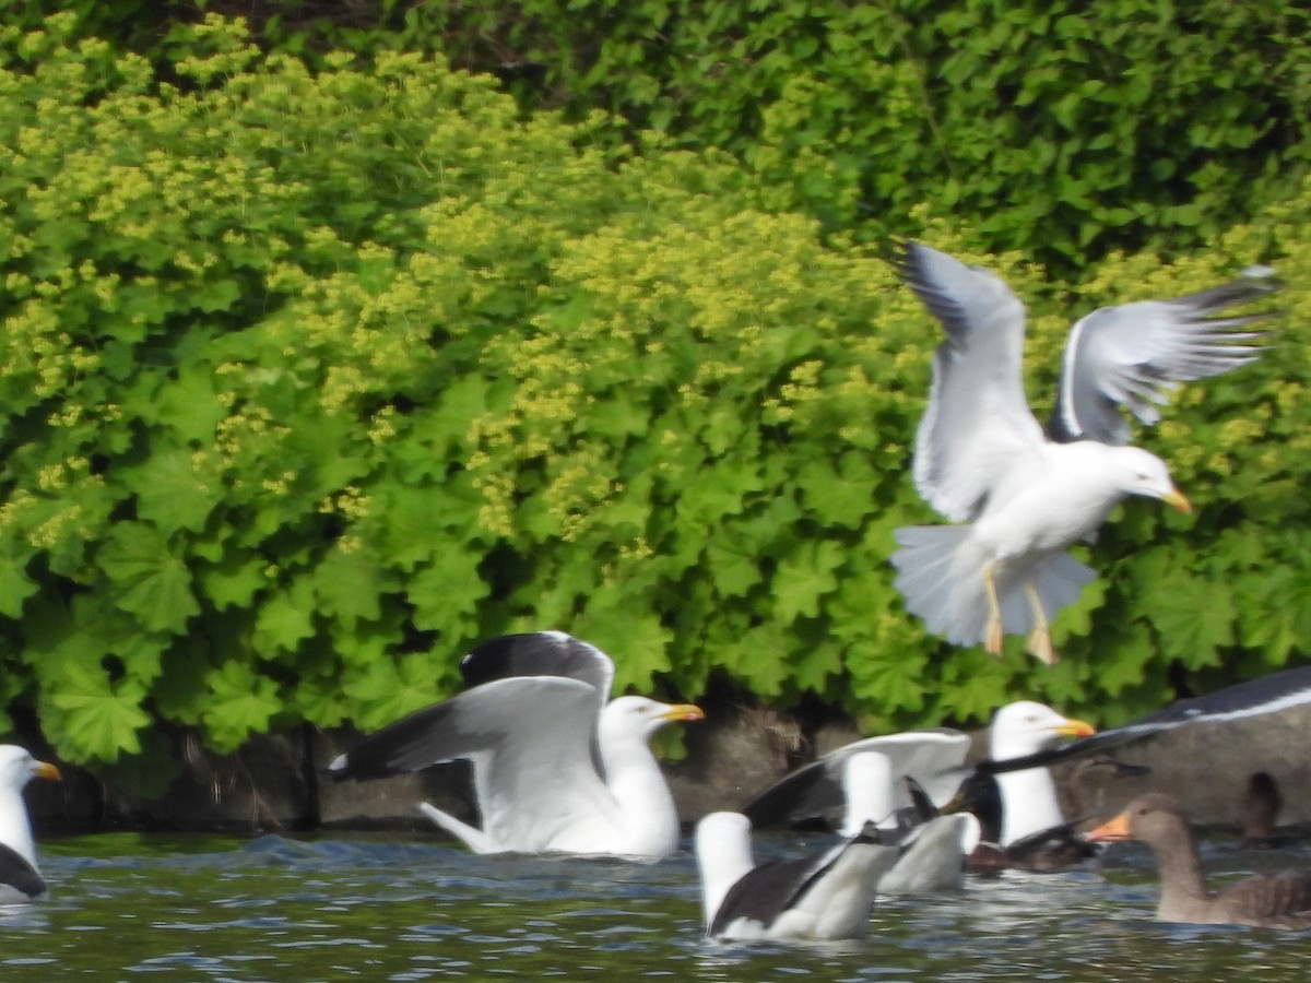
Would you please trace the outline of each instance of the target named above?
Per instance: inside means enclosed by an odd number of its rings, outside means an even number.
[[[867,826],[818,856],[756,866],[751,820],[711,813],[696,826],[707,935],[739,941],[864,936],[878,879],[898,856],[881,840]]]

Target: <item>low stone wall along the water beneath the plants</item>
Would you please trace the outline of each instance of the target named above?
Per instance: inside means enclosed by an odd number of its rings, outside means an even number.
[[[1177,796],[1201,826],[1234,826],[1248,776],[1264,769],[1280,782],[1283,823],[1311,820],[1311,709],[1235,723],[1189,725],[1118,751],[1151,773],[1121,779],[1099,801],[1080,802],[1068,768],[1054,773],[1068,815],[1112,813],[1145,790]],[[683,760],[665,771],[679,813],[691,823],[718,809],[737,809],[793,767],[859,733],[842,721],[808,730],[773,710],[721,706],[687,725]],[[978,735],[977,735],[978,737]],[[28,802],[38,832],[115,828],[169,831],[414,830],[433,827],[420,801],[473,819],[465,765],[368,782],[333,782],[328,763],[359,739],[351,730],[309,727],[253,738],[235,755],[206,751],[194,735],[174,738],[180,775],[156,800],[134,797],[90,773],[62,765],[64,781],[33,782]],[[41,755],[39,742],[29,747]],[[975,741],[975,756],[982,741]]]

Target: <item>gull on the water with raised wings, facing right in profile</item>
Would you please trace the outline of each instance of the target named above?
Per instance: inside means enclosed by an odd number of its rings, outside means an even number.
[[[608,700],[615,666],[562,632],[514,634],[465,655],[472,688],[402,717],[337,758],[337,780],[378,779],[467,759],[481,824],[422,803],[476,853],[659,860],[678,847],[674,798],[648,741],[691,704]]]

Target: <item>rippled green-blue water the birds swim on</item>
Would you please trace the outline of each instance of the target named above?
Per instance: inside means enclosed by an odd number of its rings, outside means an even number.
[[[819,845],[780,838],[762,852]],[[1100,870],[881,903],[868,940],[794,948],[705,941],[687,848],[653,866],[397,839],[113,835],[41,849],[54,896],[0,908],[0,980],[1270,980],[1304,978],[1311,952],[1311,936],[1152,923],[1135,845]],[[1311,853],[1221,843],[1206,862],[1219,881]]]

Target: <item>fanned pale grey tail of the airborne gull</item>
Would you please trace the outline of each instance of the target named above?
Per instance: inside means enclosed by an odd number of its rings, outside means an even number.
[[[971,526],[905,526],[894,537],[901,545],[891,556],[894,581],[906,609],[952,645],[982,645],[987,636],[987,592],[983,565],[988,557],[973,537]],[[998,602],[1007,634],[1033,630],[1033,608],[1025,582],[1037,590],[1047,620],[1078,599],[1096,574],[1067,553],[1053,553],[1028,564],[1023,571],[999,566]]]

